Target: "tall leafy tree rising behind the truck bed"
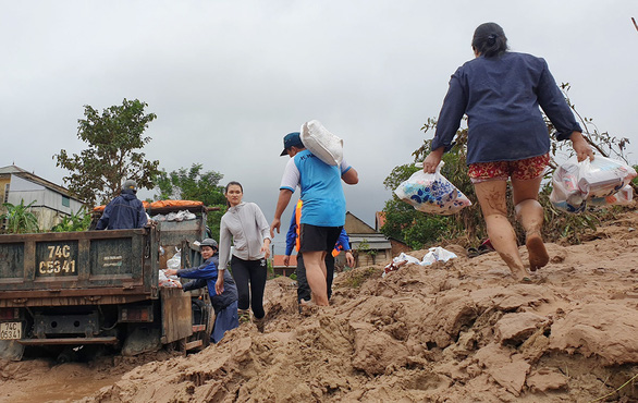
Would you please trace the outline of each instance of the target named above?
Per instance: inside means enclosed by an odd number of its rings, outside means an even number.
[[[77,137],[88,144],[79,155],[66,150],[54,155],[56,166],[71,171],[64,176],[69,191],[88,205],[106,204],[118,195],[127,179],[138,187],[152,188],[152,178],[159,171],[159,161],[149,161],[137,151],[150,142],[144,131],[157,115],[145,114],[148,105],[124,98],[121,106],[112,106],[100,114],[90,106],[84,107],[85,119],[78,119]]]

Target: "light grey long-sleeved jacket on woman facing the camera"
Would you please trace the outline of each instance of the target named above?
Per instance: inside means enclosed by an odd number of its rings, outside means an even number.
[[[229,208],[221,218],[219,234],[219,268],[225,269],[233,255],[244,260],[263,258],[263,240],[270,240],[270,224],[259,206],[254,203],[240,203]]]

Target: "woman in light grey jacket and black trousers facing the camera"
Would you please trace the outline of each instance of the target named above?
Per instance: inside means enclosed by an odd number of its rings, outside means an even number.
[[[240,321],[248,321],[253,308],[255,325],[263,331],[263,290],[268,267],[266,259],[270,256],[270,225],[254,203],[244,203],[244,188],[238,182],[230,182],[224,195],[228,200],[228,211],[221,218],[220,265],[224,270],[231,262],[233,278],[237,284]],[[231,240],[234,248],[231,258]],[[218,293],[223,292],[224,278],[218,277],[214,285]]]

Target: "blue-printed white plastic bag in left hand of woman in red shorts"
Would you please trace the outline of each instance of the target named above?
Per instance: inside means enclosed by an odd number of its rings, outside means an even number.
[[[439,216],[450,216],[471,206],[471,202],[441,174],[443,161],[435,173],[418,170],[394,190],[394,194],[415,209]]]

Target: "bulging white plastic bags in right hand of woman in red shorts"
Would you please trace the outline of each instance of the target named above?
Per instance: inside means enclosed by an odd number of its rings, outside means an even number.
[[[629,182],[636,170],[628,164],[597,156],[578,162],[572,157],[552,175],[550,202],[562,211],[580,212],[587,206],[626,205],[634,199]]]

